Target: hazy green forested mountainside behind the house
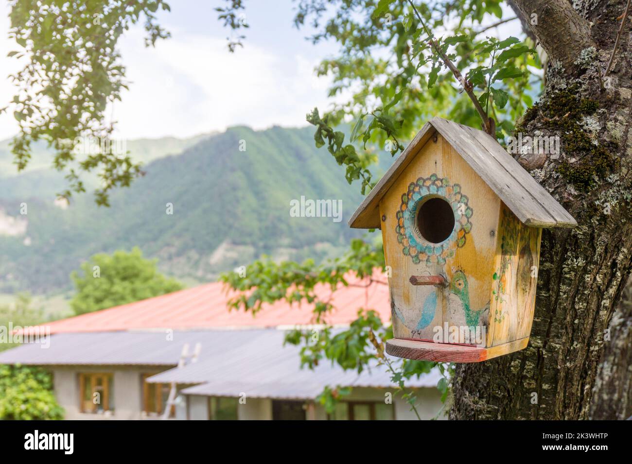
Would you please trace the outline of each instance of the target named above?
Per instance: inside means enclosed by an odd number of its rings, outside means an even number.
[[[346,184],[331,155],[314,147],[312,128],[235,127],[176,141],[128,144],[132,157],[158,159],[129,189],[112,194],[110,208],[95,205],[90,193],[73,197],[68,208],[55,205],[64,179],[44,168],[46,150],[38,151],[38,169],[10,177],[8,151],[0,150],[0,290],[66,289],[70,271],[92,254],[133,246],[159,258],[168,275],[206,282],[264,253],[334,256],[359,234],[346,225],[361,200],[358,187]],[[167,150],[181,153],[163,156]],[[301,196],[341,199],[341,222],[290,217],[289,202]],[[21,203],[27,215],[20,214]]]

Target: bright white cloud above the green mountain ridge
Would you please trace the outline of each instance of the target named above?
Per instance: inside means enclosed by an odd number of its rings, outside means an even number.
[[[4,13],[9,13],[6,4]],[[6,57],[15,49],[6,39],[8,18],[0,21],[0,69],[7,72],[18,64]],[[279,47],[267,49],[247,39],[245,47],[231,54],[225,39],[166,27],[173,37],[159,40],[155,48],[144,46],[142,27],[131,29],[119,42],[131,81],[123,101],[107,111],[107,119],[117,121],[119,137],[184,137],[236,124],[255,129],[304,126],[308,111],[331,103],[329,80],[313,71],[317,59],[289,56]],[[0,104],[9,102],[13,92],[11,83],[2,80]],[[11,114],[0,116],[0,138],[17,130]]]

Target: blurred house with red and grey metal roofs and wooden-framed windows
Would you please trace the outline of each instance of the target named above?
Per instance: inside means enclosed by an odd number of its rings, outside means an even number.
[[[351,280],[351,283],[358,283]],[[334,294],[331,323],[343,328],[358,306],[388,320],[387,287],[373,282]],[[317,289],[322,296],[331,292]],[[1,364],[42,366],[66,419],[157,419],[172,386],[174,419],[414,419],[384,366],[343,371],[324,360],[300,368],[300,348],[283,345],[287,330],[310,326],[310,305],[267,306],[253,318],[228,311],[221,283],[209,283],[50,324],[37,343],[0,353]],[[310,326],[318,329],[318,326]],[[178,367],[184,346],[198,355]],[[437,372],[413,379],[423,419],[442,408]],[[351,386],[328,417],[317,402],[325,386]]]

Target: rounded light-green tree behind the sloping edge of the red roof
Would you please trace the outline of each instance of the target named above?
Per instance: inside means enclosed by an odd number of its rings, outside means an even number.
[[[156,270],[156,261],[143,258],[137,247],[130,253],[95,254],[81,273],[71,274],[76,294],[70,306],[83,314],[181,290],[179,282]]]

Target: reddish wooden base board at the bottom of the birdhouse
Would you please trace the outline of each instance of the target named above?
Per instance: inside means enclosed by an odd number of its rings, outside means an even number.
[[[418,359],[437,362],[481,362],[526,348],[529,337],[502,343],[490,348],[451,345],[449,343],[423,342],[422,340],[403,340],[391,338],[386,341],[389,355],[406,359]]]

